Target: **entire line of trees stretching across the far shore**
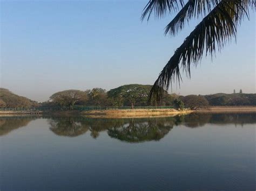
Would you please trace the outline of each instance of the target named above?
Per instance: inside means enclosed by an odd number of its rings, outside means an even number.
[[[256,94],[212,94],[212,95],[187,95],[169,94],[163,91],[160,103],[149,102],[149,94],[152,86],[142,84],[127,84],[109,91],[102,88],[91,90],[64,90],[50,96],[49,100],[43,103],[29,100],[26,97],[18,96],[8,89],[0,88],[0,108],[36,108],[36,107],[130,107],[146,105],[173,106],[177,109],[188,107],[199,109],[214,106],[228,105],[256,105]]]

